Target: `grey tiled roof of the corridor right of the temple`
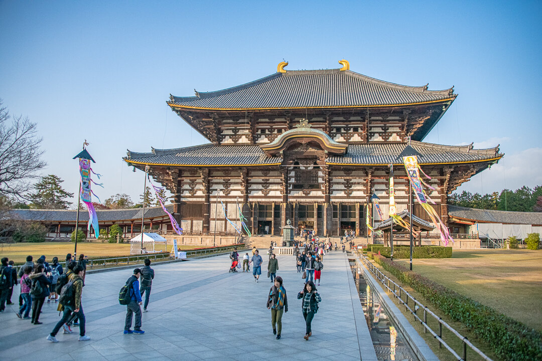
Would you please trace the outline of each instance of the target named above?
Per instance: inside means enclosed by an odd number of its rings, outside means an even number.
[[[457,219],[482,223],[542,225],[542,212],[489,211],[488,209],[448,205],[448,215]]]

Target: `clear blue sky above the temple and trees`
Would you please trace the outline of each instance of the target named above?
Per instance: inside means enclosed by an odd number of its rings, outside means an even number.
[[[339,68],[429,89],[455,86],[425,139],[506,156],[459,190],[542,184],[541,2],[0,1],[0,98],[38,124],[48,168],[75,192],[83,140],[101,200],[135,201],[121,158],[207,142],[165,104],[288,69]],[[506,178],[505,178],[506,176]]]

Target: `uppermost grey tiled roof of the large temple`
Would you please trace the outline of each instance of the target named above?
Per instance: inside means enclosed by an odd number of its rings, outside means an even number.
[[[453,99],[453,88],[428,90],[389,83],[350,70],[288,70],[237,87],[170,97],[170,106],[202,109],[364,107]]]

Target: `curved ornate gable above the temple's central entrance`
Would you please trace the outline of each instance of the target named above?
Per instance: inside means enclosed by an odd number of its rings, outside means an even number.
[[[300,145],[306,145],[308,142],[316,142],[320,145],[322,150],[325,150],[330,154],[345,154],[348,145],[335,142],[331,136],[325,133],[323,130],[312,128],[312,125],[308,123],[308,120],[302,119],[299,124],[295,125],[296,129],[287,130],[280,136],[268,144],[261,145],[263,152],[268,156],[281,153],[286,149],[291,142],[300,143]]]

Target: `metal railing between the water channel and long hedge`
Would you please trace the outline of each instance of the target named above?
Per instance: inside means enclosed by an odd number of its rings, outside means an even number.
[[[470,347],[471,350],[478,353],[478,355],[483,359],[487,361],[493,361],[491,358],[485,355],[482,351],[478,349],[478,347],[474,346],[470,341],[462,336],[459,332],[457,332],[453,327],[448,325],[446,322],[442,320],[442,318],[438,317],[437,314],[435,314],[433,311],[429,310],[428,307],[424,306],[420,301],[416,300],[416,298],[412,297],[412,295],[406,291],[403,287],[392,281],[388,276],[386,276],[382,271],[380,271],[375,265],[372,264],[371,261],[365,255],[359,254],[359,257],[362,259],[360,261],[360,258],[357,258],[356,261],[358,262],[358,265],[365,265],[366,268],[375,275],[375,277],[384,285],[386,290],[391,292],[393,296],[395,296],[399,300],[400,305],[405,306],[405,310],[410,312],[412,316],[414,316],[414,319],[419,321],[420,324],[423,326],[423,332],[431,333],[433,337],[438,341],[438,348],[446,348],[458,361],[467,361],[467,347]],[[393,288],[392,288],[393,287]],[[404,300],[402,298],[402,295],[404,294]],[[411,305],[413,307],[409,306],[409,299]],[[423,319],[418,316],[418,312],[420,309],[423,310]],[[438,332],[431,329],[431,327],[427,324],[427,315],[433,317],[438,322]],[[463,355],[459,356],[457,352],[455,352],[454,349],[452,349],[443,339],[442,339],[442,326],[446,327],[451,333],[453,333],[462,343],[463,348]]]

